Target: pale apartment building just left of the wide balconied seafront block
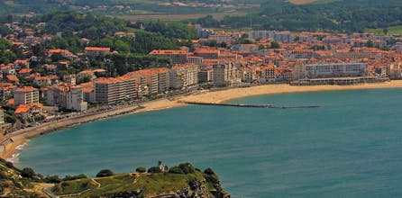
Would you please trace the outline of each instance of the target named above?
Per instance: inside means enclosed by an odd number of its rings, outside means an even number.
[[[47,103],[73,111],[86,111],[83,87],[79,85],[58,84],[47,91]]]

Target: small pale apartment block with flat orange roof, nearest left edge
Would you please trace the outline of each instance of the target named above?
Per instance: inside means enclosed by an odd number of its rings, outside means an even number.
[[[39,103],[39,91],[32,86],[17,88],[14,92],[14,104]]]

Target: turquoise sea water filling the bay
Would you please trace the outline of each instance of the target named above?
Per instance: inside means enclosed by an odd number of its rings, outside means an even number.
[[[233,197],[402,196],[402,89],[278,94],[87,123],[32,139],[18,166],[43,175],[192,162]]]

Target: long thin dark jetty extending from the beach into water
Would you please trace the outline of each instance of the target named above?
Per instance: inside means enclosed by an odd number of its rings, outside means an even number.
[[[197,103],[180,101],[180,103],[212,105],[212,106],[233,106],[233,107],[248,107],[248,108],[267,108],[267,109],[308,109],[320,108],[321,106],[275,106],[271,104],[244,104],[244,103]]]

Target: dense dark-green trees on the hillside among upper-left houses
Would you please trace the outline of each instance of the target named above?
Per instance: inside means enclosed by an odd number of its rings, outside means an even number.
[[[48,49],[68,49],[73,53],[84,52],[87,46],[109,47],[111,53],[106,56],[87,57],[87,61],[71,61],[60,54],[53,54],[49,58],[41,58],[31,63],[34,71],[46,75],[40,67],[51,63],[57,65],[59,61],[69,61],[69,66],[61,68],[58,75],[77,73],[88,68],[105,68],[108,76],[121,76],[127,72],[147,67],[171,67],[169,58],[159,58],[148,55],[153,49],[179,49],[180,46],[192,48],[190,39],[196,38],[196,30],[183,23],[144,23],[142,30],[122,19],[98,17],[92,14],[71,12],[53,12],[39,18],[31,19],[31,23],[47,23],[41,28],[41,34],[55,34],[61,32],[61,37],[32,46],[33,55],[43,57]],[[36,28],[36,27],[33,27]],[[115,36],[117,31],[132,32],[133,36]],[[82,41],[89,39],[89,42]],[[0,51],[11,48],[11,43],[0,40]],[[13,52],[13,53],[11,53]],[[8,52],[7,52],[8,53]],[[5,53],[5,55],[8,55]],[[10,51],[10,56],[3,56],[1,62],[8,63],[18,58],[18,53]],[[0,62],[0,63],[1,63]],[[85,79],[79,81],[85,82]]]

